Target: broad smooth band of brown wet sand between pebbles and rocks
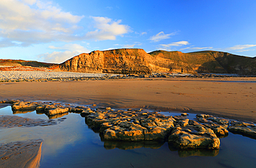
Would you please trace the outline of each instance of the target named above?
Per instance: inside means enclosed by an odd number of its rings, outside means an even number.
[[[256,123],[256,78],[154,78],[0,83],[0,100],[189,111]]]

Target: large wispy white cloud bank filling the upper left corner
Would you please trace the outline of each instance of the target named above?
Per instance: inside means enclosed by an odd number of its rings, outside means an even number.
[[[72,41],[77,39],[73,31],[84,16],[44,3],[39,0],[1,0],[0,36],[9,46],[21,46],[50,41]]]

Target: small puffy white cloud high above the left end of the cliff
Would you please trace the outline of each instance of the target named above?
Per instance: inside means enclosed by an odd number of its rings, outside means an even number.
[[[107,17],[91,17],[95,21],[94,27],[97,29],[88,32],[85,36],[86,39],[96,40],[116,40],[116,36],[122,36],[129,32],[128,25],[121,25],[121,20],[112,21]]]

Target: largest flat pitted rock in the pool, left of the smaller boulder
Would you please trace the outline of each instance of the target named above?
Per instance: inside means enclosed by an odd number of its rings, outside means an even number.
[[[164,140],[174,127],[174,118],[156,112],[102,112],[85,116],[86,124],[98,129],[105,140]]]

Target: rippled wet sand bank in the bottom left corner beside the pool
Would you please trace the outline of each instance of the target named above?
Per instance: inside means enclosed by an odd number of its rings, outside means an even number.
[[[34,139],[0,144],[0,167],[39,167],[42,143],[42,139]]]

